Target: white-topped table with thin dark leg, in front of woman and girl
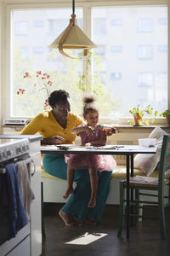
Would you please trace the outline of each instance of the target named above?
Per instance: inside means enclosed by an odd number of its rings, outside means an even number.
[[[136,145],[106,145],[82,147],[77,145],[44,145],[42,154],[122,154],[127,158],[127,239],[129,238],[129,173],[133,177],[134,154],[156,154],[157,147],[144,148]],[[130,172],[129,172],[130,171]],[[133,195],[131,195],[132,199]]]

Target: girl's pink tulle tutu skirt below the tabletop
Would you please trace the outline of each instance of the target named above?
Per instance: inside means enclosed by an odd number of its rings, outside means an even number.
[[[65,162],[71,169],[88,169],[103,171],[116,168],[116,161],[109,154],[65,154]]]

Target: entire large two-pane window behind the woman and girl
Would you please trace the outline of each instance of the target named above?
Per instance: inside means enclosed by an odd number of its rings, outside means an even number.
[[[167,109],[169,22],[167,6],[161,6],[159,1],[154,5],[153,0],[145,6],[135,5],[138,0],[133,0],[133,5],[122,1],[118,6],[118,2],[112,1],[99,5],[97,0],[80,1],[76,7],[78,26],[83,30],[84,24],[84,32],[98,45],[90,50],[92,58],[84,61],[65,58],[58,49],[48,48],[69,24],[72,10],[65,8],[65,1],[57,1],[54,7],[45,0],[43,7],[37,3],[35,9],[34,6],[29,9],[26,4],[20,4],[20,8],[8,4],[12,51],[10,60],[8,54],[5,57],[11,67],[6,74],[7,78],[10,76],[8,86],[11,86],[8,88],[10,117],[34,116],[43,109],[45,90],[34,87],[34,74],[40,70],[50,75],[51,90],[69,91],[71,110],[77,113],[82,113],[82,94],[86,90],[97,95],[102,117],[110,116],[113,109],[121,117],[127,117],[128,109],[138,102],[151,104],[158,110]],[[6,31],[3,33],[6,38]],[[7,51],[10,52],[9,47]],[[76,56],[82,52],[65,51]],[[31,79],[23,79],[26,72]],[[26,89],[26,94],[17,96],[19,88]]]

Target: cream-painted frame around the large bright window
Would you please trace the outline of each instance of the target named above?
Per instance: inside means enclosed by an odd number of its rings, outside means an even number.
[[[11,33],[10,28],[12,26],[11,22],[11,10],[13,9],[53,9],[53,8],[71,8],[71,1],[64,0],[63,3],[61,3],[59,0],[55,0],[55,3],[53,3],[54,0],[52,0],[50,3],[46,0],[46,2],[41,2],[41,0],[36,0],[34,3],[28,3],[28,0],[22,1],[22,3],[17,0],[14,0],[13,3],[8,3],[8,0],[4,0],[3,3],[1,3],[3,10],[1,11],[2,16],[2,22],[1,22],[1,55],[2,55],[2,62],[3,65],[1,65],[1,71],[2,73],[2,86],[1,86],[1,95],[3,96],[2,100],[2,118],[13,118],[10,116],[10,86],[11,86],[11,75],[12,75],[12,69],[11,69]],[[123,7],[123,6],[167,6],[167,13],[168,18],[170,18],[170,0],[122,0],[121,3],[119,0],[108,0],[107,2],[103,3],[101,0],[93,0],[93,2],[88,2],[85,0],[82,0],[79,2],[77,0],[76,2],[76,9],[82,8],[83,9],[83,31],[88,35],[88,37],[91,37],[91,9],[92,8],[98,8],[98,7]],[[75,11],[76,13],[76,11]],[[68,21],[69,21],[68,17]],[[170,25],[170,19],[168,19],[167,26]],[[3,39],[4,38],[4,39]],[[170,43],[170,33],[168,33],[168,42],[167,45]],[[168,54],[168,66],[170,63],[170,55]],[[83,73],[87,73],[87,62],[86,59],[83,59]],[[170,109],[170,82],[169,82],[169,72],[167,74],[167,104],[168,109]],[[3,86],[3,84],[6,84],[6,86]],[[87,81],[87,91],[90,90],[90,84]],[[20,117],[23,119],[23,117]],[[129,118],[122,118],[119,119],[119,124],[127,124],[127,119]],[[111,119],[108,117],[102,118],[104,121],[111,122]],[[162,124],[165,123],[165,119],[162,118],[156,118],[156,124]]]

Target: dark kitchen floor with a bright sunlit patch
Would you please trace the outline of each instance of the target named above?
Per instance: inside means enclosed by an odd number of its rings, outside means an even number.
[[[62,204],[44,206],[46,239],[42,244],[42,256],[169,256],[170,255],[170,209],[166,212],[167,240],[160,239],[158,220],[144,219],[130,229],[127,241],[116,236],[118,229],[118,206],[107,205],[102,223],[97,226],[82,225],[66,227],[58,212]],[[102,235],[103,234],[103,235]],[[98,238],[86,245],[66,244],[80,237]],[[103,237],[101,237],[103,236]],[[84,239],[84,240],[83,240]],[[81,241],[87,239],[82,238]],[[91,240],[90,240],[91,241]]]

